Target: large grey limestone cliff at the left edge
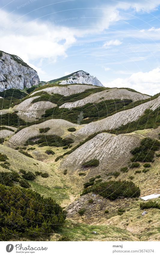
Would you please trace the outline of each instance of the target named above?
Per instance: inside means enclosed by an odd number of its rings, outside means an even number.
[[[39,84],[37,72],[21,58],[0,51],[0,91]]]

